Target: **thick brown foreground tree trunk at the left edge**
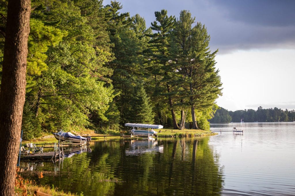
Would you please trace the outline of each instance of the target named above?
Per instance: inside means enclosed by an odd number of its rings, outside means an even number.
[[[25,100],[30,0],[9,0],[0,92],[0,196],[14,195]]]

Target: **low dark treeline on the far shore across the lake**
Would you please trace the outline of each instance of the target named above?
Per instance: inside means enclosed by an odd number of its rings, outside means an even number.
[[[295,121],[295,111],[288,111],[278,108],[263,109],[261,106],[257,110],[237,110],[228,111],[220,108],[215,114],[214,118],[210,119],[210,123],[229,123],[229,122],[293,122]]]

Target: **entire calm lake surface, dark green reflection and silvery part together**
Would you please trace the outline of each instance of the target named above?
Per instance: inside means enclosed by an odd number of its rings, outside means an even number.
[[[295,195],[295,123],[242,126],[198,139],[95,141],[57,165],[21,165],[44,171],[23,172],[37,184],[84,195]]]

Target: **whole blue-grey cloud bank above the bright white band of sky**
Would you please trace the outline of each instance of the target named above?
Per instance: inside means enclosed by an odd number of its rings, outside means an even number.
[[[109,4],[110,0],[104,1]],[[147,27],[155,11],[179,17],[189,10],[211,35],[210,48],[219,53],[260,48],[295,48],[294,0],[121,0],[121,12],[140,14]]]

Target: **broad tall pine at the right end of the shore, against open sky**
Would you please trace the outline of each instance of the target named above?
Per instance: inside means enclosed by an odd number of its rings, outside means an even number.
[[[173,56],[179,67],[178,74],[182,75],[182,94],[191,106],[193,129],[198,129],[196,110],[205,111],[212,107],[218,95],[221,95],[222,84],[219,70],[215,70],[217,51],[208,51],[210,36],[207,29],[199,22],[192,27],[194,21],[189,11],[180,12],[173,29],[173,42],[176,45]]]

